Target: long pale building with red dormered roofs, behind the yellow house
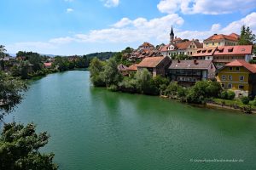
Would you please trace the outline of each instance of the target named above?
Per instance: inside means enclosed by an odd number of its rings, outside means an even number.
[[[194,59],[213,59],[213,63],[219,69],[235,59],[243,59],[248,62],[253,59],[252,53],[252,45],[236,45],[198,48],[192,57]]]

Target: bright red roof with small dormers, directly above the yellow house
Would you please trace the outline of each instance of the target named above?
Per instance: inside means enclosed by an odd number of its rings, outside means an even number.
[[[252,45],[222,46],[216,48],[214,55],[252,54],[252,50]]]

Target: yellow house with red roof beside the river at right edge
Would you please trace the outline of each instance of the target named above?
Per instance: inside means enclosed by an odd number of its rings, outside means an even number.
[[[255,96],[256,65],[236,59],[218,70],[216,79],[224,89],[233,90],[236,97]]]

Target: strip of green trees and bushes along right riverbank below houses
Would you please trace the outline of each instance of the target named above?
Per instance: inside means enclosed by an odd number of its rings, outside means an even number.
[[[122,59],[121,59],[122,60]],[[123,77],[117,66],[122,63],[116,55],[108,61],[94,58],[90,62],[90,80],[95,87],[106,87],[111,91],[131,94],[162,95],[189,104],[234,105],[246,113],[256,108],[256,100],[243,97],[235,99],[235,93],[224,90],[216,80],[196,82],[191,88],[183,88],[166,77],[152,77],[147,69]]]

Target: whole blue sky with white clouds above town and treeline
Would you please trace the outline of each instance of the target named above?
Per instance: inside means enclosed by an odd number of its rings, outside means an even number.
[[[256,33],[256,0],[0,0],[0,44],[8,53],[90,54],[177,37]]]

